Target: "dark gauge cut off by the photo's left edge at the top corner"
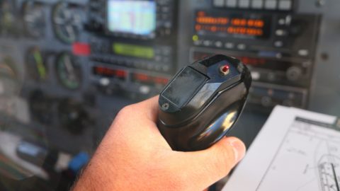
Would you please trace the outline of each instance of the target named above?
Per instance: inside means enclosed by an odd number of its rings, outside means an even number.
[[[9,0],[0,0],[0,30],[11,33],[14,24],[13,4]]]

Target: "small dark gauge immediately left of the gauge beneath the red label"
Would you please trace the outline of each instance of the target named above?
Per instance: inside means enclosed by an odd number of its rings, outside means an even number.
[[[47,67],[38,47],[33,47],[26,56],[27,70],[30,77],[36,81],[47,79]]]

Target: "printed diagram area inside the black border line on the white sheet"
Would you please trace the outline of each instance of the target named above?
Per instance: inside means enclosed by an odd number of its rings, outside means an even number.
[[[329,125],[328,125],[329,126]],[[340,131],[295,118],[256,190],[340,191]]]

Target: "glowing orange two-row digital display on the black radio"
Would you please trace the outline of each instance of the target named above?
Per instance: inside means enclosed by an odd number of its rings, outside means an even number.
[[[270,34],[271,19],[263,16],[220,15],[198,11],[195,31],[198,35],[234,35],[252,38],[266,38]]]

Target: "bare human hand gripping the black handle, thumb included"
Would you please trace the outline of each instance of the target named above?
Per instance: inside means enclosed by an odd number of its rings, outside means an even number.
[[[74,190],[204,190],[244,157],[234,137],[204,151],[172,151],[157,129],[157,100],[120,110]]]

